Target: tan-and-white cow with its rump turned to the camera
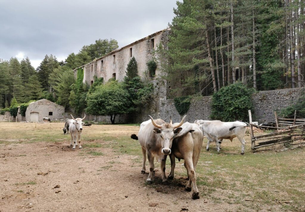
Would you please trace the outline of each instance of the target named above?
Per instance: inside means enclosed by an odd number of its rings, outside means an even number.
[[[200,156],[203,140],[203,132],[198,124],[185,122],[181,126],[182,130],[175,135],[171,147],[170,163],[171,170],[168,179],[174,178],[175,157],[180,161],[184,160],[184,167],[188,174],[188,183],[185,186],[187,191],[191,191],[192,199],[199,199],[199,191],[196,184],[196,165]]]

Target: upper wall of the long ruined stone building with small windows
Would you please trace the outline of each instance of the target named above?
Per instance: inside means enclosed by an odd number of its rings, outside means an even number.
[[[155,32],[146,38],[142,38],[105,56],[97,58],[75,69],[74,76],[77,76],[77,70],[81,68],[84,70],[83,82],[87,82],[88,84],[94,82],[94,76],[98,78],[102,77],[104,82],[107,82],[110,78],[123,81],[124,76],[126,76],[127,64],[134,56],[138,64],[138,75],[144,77],[144,74],[147,73],[146,63],[152,59],[153,50],[157,48],[160,42],[163,46],[166,45],[169,32],[170,29]],[[155,75],[158,76],[159,74],[160,69],[157,67]]]

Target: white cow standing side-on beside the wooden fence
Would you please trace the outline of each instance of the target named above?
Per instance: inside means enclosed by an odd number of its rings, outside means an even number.
[[[213,140],[216,143],[217,151],[219,152],[219,140],[230,139],[237,137],[242,143],[242,155],[245,154],[246,141],[244,139],[247,124],[240,121],[222,122],[222,121],[199,121],[204,135],[207,135],[208,143]],[[208,146],[206,150],[209,151]]]

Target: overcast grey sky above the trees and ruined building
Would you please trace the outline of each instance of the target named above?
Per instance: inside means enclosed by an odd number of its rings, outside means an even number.
[[[59,61],[97,39],[119,48],[168,27],[176,0],[0,0],[0,58]]]

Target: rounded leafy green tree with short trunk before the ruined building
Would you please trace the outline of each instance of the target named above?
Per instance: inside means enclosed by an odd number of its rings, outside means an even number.
[[[110,81],[104,85],[99,85],[95,92],[87,96],[87,113],[92,115],[110,116],[114,124],[117,114],[127,114],[130,112],[130,95],[117,81]]]

